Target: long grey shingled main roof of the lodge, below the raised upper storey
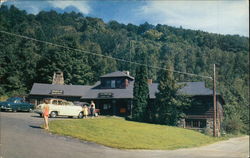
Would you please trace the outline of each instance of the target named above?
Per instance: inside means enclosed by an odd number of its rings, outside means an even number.
[[[30,95],[51,95],[53,90],[63,91],[61,96],[78,96],[82,99],[97,99],[100,93],[112,93],[112,98],[122,99],[133,98],[134,82],[130,82],[129,86],[125,89],[97,89],[95,88],[100,82],[97,82],[94,86],[83,85],[52,85],[43,83],[34,83]],[[181,82],[182,87],[179,90],[180,94],[184,95],[212,95],[213,91],[205,87],[204,82]],[[158,92],[158,83],[149,84],[150,98],[155,98],[155,93]]]

